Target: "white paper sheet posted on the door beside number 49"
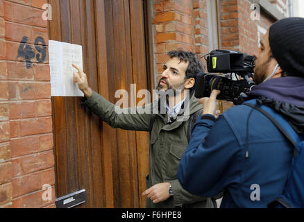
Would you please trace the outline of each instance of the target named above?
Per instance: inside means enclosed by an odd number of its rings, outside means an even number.
[[[72,64],[83,69],[83,47],[77,44],[49,40],[51,96],[84,96],[74,83]]]

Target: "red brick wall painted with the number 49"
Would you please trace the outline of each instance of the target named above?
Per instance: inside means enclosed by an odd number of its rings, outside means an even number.
[[[0,207],[55,206],[44,3],[0,0]]]

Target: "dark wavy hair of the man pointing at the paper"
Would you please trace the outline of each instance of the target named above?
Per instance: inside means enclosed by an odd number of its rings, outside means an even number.
[[[180,62],[189,62],[189,65],[186,70],[185,80],[189,78],[195,78],[196,75],[204,71],[203,63],[196,58],[195,54],[191,51],[169,51],[168,56],[170,58],[179,58]]]

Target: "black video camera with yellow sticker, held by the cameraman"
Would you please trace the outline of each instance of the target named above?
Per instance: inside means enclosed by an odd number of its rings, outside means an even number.
[[[246,96],[255,85],[250,80],[255,67],[255,56],[248,56],[239,51],[217,49],[204,58],[207,61],[208,72],[228,74],[228,77],[199,73],[196,77],[195,97],[198,99],[210,97],[212,90],[218,89],[221,93],[217,99],[233,101],[235,105],[242,103],[242,97]],[[236,80],[233,80],[233,74]],[[243,80],[239,80],[237,76],[242,76]]]

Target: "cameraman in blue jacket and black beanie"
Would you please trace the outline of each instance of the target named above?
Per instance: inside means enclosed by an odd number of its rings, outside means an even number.
[[[304,135],[304,19],[276,22],[260,43],[253,78],[257,86],[248,99],[272,108]],[[221,207],[267,207],[282,194],[294,146],[247,105],[215,119],[219,93],[213,90],[210,99],[200,100],[203,115],[180,161],[178,180],[199,196],[224,191]]]

